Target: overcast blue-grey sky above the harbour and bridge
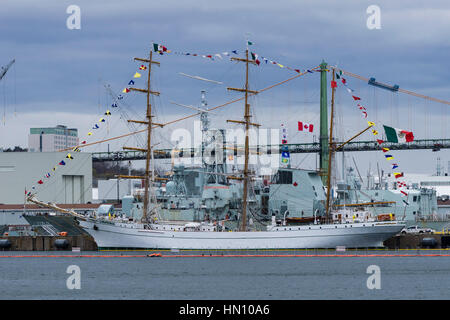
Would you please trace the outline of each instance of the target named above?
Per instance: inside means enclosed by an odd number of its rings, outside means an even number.
[[[406,4],[406,5],[405,5]],[[69,5],[81,9],[81,29],[69,30]],[[366,9],[381,9],[381,29],[370,30]],[[450,100],[448,1],[17,1],[3,0],[0,9],[0,65],[16,63],[0,82],[0,147],[27,146],[30,127],[67,125],[79,129],[80,139],[111,105],[103,85],[115,94],[128,83],[137,64],[133,57],[148,55],[152,42],[173,51],[214,54],[245,49],[248,34],[251,50],[292,68],[306,69],[322,59],[361,76],[401,88]],[[167,122],[191,114],[170,103],[199,105],[200,90],[207,90],[210,107],[239,97],[227,86],[242,87],[243,65],[226,59],[166,54],[156,57],[153,84],[161,97],[154,99],[158,121]],[[180,76],[183,72],[221,81],[206,83]],[[274,65],[252,67],[250,85],[261,89],[295,75]],[[136,86],[143,86],[138,79]],[[426,102],[401,93],[374,89],[348,78],[361,97],[369,118],[411,130],[416,138],[448,138],[448,105]],[[129,93],[122,110],[142,119],[145,99]],[[337,91],[337,135],[349,137],[365,128],[351,97]],[[297,121],[319,126],[319,74],[308,74],[251,100],[255,118],[265,127],[289,128],[289,142],[310,142],[312,135],[298,133]],[[129,131],[117,109],[108,127],[97,138]],[[214,127],[225,119],[242,118],[242,103],[212,114]],[[4,117],[4,118],[3,118]],[[173,129],[192,128],[192,121],[166,127],[167,142]],[[381,127],[380,127],[381,128]],[[94,137],[92,140],[95,140]],[[164,140],[163,139],[163,140]],[[371,140],[366,134],[361,139]],[[110,143],[113,150],[134,138]],[[106,150],[102,145],[96,150]],[[93,151],[93,149],[90,149]],[[388,170],[381,152],[355,153],[361,170],[379,162]],[[396,152],[405,171],[434,173],[436,158],[447,167],[448,151]],[[414,156],[412,156],[414,154]],[[299,155],[294,164],[314,167],[315,155]]]

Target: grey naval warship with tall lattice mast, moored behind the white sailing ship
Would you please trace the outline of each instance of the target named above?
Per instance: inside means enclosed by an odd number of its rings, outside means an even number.
[[[159,207],[156,218],[180,223],[226,221],[229,229],[233,229],[242,211],[243,186],[229,180],[233,174],[228,172],[229,168],[234,166],[227,164],[227,159],[237,156],[238,146],[226,147],[224,129],[210,129],[205,91],[201,92],[201,97],[201,166],[173,165],[169,181],[159,183],[154,190],[154,200]],[[218,136],[221,147],[227,150],[220,156],[206,157],[204,150],[214,146]],[[124,197],[122,210],[127,217],[135,220],[142,217],[141,198],[142,192]],[[314,216],[317,220],[324,216],[325,200],[325,187],[317,171],[288,165],[271,175],[254,179],[248,200],[250,224],[263,227],[272,219],[278,224],[309,223]]]

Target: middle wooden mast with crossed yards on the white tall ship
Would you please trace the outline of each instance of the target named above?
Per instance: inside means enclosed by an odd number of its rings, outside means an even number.
[[[252,91],[249,90],[249,85],[248,85],[248,64],[252,63],[256,65],[256,62],[253,60],[249,60],[248,59],[248,49],[245,50],[245,59],[241,59],[241,58],[231,58],[231,60],[234,61],[240,61],[240,62],[245,62],[245,88],[244,89],[240,89],[240,88],[227,88],[228,90],[233,90],[233,91],[239,91],[239,92],[244,92],[245,94],[245,99],[244,99],[244,103],[245,103],[245,112],[244,112],[244,121],[238,121],[238,120],[227,120],[227,122],[233,122],[233,123],[240,123],[243,124],[245,126],[245,151],[244,151],[244,157],[245,157],[245,162],[244,162],[244,177],[243,178],[239,178],[239,180],[244,180],[244,187],[243,187],[243,194],[242,194],[242,218],[241,218],[241,226],[240,226],[240,230],[241,231],[246,231],[247,230],[247,196],[248,196],[248,181],[249,181],[249,170],[248,170],[248,155],[249,155],[249,129],[250,126],[256,126],[259,127],[259,124],[256,123],[251,123],[250,122],[250,118],[251,118],[251,114],[250,114],[250,104],[248,103],[248,93],[253,93],[253,94],[257,94],[257,91]],[[235,178],[236,179],[236,178]]]

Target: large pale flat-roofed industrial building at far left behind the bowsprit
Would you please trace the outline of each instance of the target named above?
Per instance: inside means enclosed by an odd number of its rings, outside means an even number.
[[[24,203],[25,190],[36,191],[37,198],[45,202],[91,202],[92,155],[72,153],[73,160],[66,159],[66,155],[65,152],[0,152],[0,203]],[[59,165],[61,161],[65,165]],[[43,184],[38,184],[39,180]]]

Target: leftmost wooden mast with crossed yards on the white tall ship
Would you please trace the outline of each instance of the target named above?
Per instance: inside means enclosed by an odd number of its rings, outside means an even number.
[[[148,208],[149,208],[149,188],[151,187],[151,183],[154,181],[153,177],[153,170],[150,170],[150,159],[152,155],[152,144],[151,144],[151,138],[152,138],[152,127],[153,126],[160,126],[163,127],[162,124],[153,122],[152,118],[152,105],[150,103],[150,95],[156,95],[159,96],[159,92],[157,91],[151,91],[150,89],[150,75],[152,71],[152,64],[160,65],[159,62],[153,61],[153,52],[150,50],[149,58],[143,59],[143,58],[134,58],[136,61],[141,61],[144,63],[148,63],[148,77],[147,77],[147,88],[146,89],[139,89],[139,88],[130,88],[130,90],[133,91],[139,91],[147,94],[147,112],[146,112],[146,118],[147,121],[139,121],[139,120],[128,120],[128,122],[134,122],[134,123],[140,123],[147,125],[147,148],[134,148],[134,147],[123,147],[124,150],[136,150],[136,151],[143,151],[147,153],[146,159],[145,159],[145,175],[144,176],[123,176],[119,175],[119,178],[125,178],[125,179],[143,179],[144,180],[144,208],[142,211],[142,219],[141,221],[143,223],[148,222]],[[151,174],[151,177],[150,177]]]

